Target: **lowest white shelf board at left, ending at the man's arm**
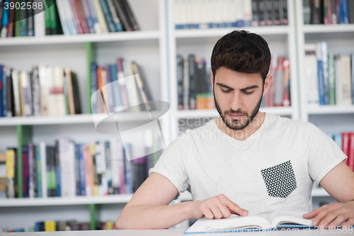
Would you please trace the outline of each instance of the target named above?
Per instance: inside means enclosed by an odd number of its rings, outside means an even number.
[[[127,203],[132,194],[108,195],[108,196],[76,196],[73,198],[50,197],[50,198],[13,198],[1,199],[0,207],[13,206],[70,206],[89,204],[115,204]]]

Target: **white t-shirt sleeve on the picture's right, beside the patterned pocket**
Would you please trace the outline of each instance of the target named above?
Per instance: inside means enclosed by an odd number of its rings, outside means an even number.
[[[319,184],[331,169],[346,161],[347,156],[331,137],[312,123],[309,123],[306,136],[304,145],[308,158],[309,174]]]

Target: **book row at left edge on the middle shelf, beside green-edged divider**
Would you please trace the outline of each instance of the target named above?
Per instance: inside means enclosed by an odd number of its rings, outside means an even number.
[[[0,64],[0,117],[79,113],[79,84],[71,69],[38,64],[25,72]]]

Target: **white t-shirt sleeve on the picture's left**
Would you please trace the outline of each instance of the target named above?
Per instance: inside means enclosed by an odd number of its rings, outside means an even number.
[[[149,170],[165,176],[178,190],[177,199],[181,192],[188,189],[188,175],[185,170],[184,159],[188,153],[188,147],[183,143],[183,137],[178,137],[164,150],[155,166]]]

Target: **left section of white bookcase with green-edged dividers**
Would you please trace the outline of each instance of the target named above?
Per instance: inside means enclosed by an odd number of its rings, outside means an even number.
[[[0,118],[0,150],[6,147],[21,147],[27,142],[36,145],[45,141],[52,145],[59,137],[69,137],[74,142],[89,143],[98,140],[119,138],[117,135],[98,133],[91,114],[91,62],[98,65],[113,64],[118,57],[135,61],[142,66],[154,100],[168,101],[166,79],[166,27],[164,0],[128,0],[141,30],[131,32],[46,35],[44,37],[1,38],[0,63],[15,69],[30,71],[33,65],[46,63],[49,66],[69,67],[77,74],[82,114],[69,116],[30,116]],[[149,9],[149,13],[147,13]],[[97,116],[97,115],[96,115]],[[105,114],[99,114],[104,118]],[[120,123],[141,123],[147,112],[120,113]],[[168,123],[162,122],[164,130]],[[53,135],[54,134],[54,135]],[[129,137],[137,152],[144,152],[144,137]],[[21,169],[21,163],[18,162]],[[22,179],[19,172],[19,179]],[[22,186],[19,186],[22,193]],[[21,196],[21,195],[20,195]],[[112,196],[78,196],[75,198],[16,198],[1,199],[1,211],[8,219],[0,223],[3,227],[28,227],[39,220],[78,220],[90,222],[91,229],[96,220],[114,221],[132,194]],[[108,204],[109,207],[104,205]],[[18,222],[23,211],[24,220]],[[61,208],[59,208],[61,207]],[[53,212],[58,211],[57,218]],[[22,213],[21,213],[22,215]],[[31,217],[33,215],[33,217]],[[69,217],[69,218],[68,218]]]

